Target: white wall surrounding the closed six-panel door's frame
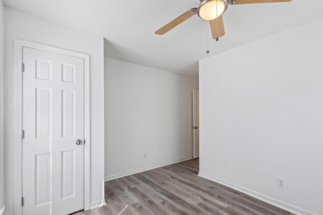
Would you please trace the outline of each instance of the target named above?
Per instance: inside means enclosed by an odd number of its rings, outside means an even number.
[[[101,203],[104,180],[104,61],[103,38],[67,28],[39,17],[5,8],[4,33],[4,152],[6,214],[14,198],[14,38],[90,54],[91,206]]]

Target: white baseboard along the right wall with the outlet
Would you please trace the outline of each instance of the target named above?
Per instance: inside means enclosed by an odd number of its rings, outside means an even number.
[[[282,208],[284,210],[288,210],[288,211],[290,211],[292,213],[295,213],[295,214],[298,214],[298,215],[319,215],[317,213],[314,213],[314,212],[308,211],[306,209],[297,207],[295,205],[286,203],[284,201],[272,198],[270,196],[266,196],[264,194],[261,194],[261,193],[255,192],[253,190],[247,189],[245,187],[241,187],[239,185],[232,184],[230,182],[221,180],[219,178],[212,177],[212,176],[209,176],[207,174],[203,174],[201,172],[198,173],[198,176],[200,176],[202,178],[206,178],[206,179],[214,181],[214,182],[217,182],[219,184],[225,185],[225,186],[230,187],[232,189],[238,190],[238,191],[243,192],[243,193],[245,193],[247,195],[250,195],[252,197],[255,197],[255,198],[260,199],[260,200],[262,200],[264,202],[270,203],[272,205],[275,205],[277,207],[280,207],[280,208]]]

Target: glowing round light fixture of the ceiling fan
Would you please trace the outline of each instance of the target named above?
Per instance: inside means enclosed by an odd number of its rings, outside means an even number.
[[[197,7],[197,15],[204,20],[214,20],[228,8],[227,0],[204,0]]]

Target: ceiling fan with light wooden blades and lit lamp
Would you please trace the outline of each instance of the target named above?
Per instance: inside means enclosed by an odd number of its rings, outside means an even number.
[[[188,18],[197,14],[200,18],[208,20],[212,32],[213,39],[217,39],[225,35],[222,14],[227,10],[229,5],[242,5],[254,3],[277,3],[291,2],[292,0],[199,0],[201,3],[197,8],[185,12],[172,22],[160,28],[155,34],[163,35],[172,30]]]

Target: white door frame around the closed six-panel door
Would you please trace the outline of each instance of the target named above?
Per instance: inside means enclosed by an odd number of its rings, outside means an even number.
[[[22,215],[22,63],[23,47],[49,51],[84,59],[84,210],[90,209],[90,55],[61,48],[14,39],[15,51],[15,154],[14,154],[14,206],[15,215]]]

